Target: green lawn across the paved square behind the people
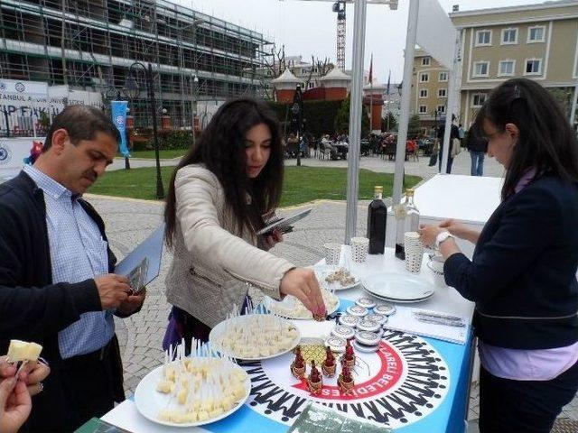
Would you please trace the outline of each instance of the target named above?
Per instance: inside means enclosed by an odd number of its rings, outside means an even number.
[[[163,185],[168,182],[174,167],[163,167]],[[406,176],[406,188],[414,186],[421,178]],[[391,196],[393,175],[359,170],[359,199],[373,198],[373,187],[382,185],[384,196]],[[89,189],[93,194],[107,196],[154,199],[156,175],[154,168],[117,170]],[[347,169],[319,167],[286,167],[281,206],[294,206],[316,199],[344,200],[347,194]]]

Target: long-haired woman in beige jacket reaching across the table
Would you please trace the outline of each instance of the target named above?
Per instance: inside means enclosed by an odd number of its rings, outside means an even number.
[[[244,309],[249,286],[274,299],[293,295],[313,314],[326,314],[312,270],[267,252],[283,236],[256,235],[279,204],[283,176],[270,109],[252,98],[221,106],[169,186],[164,221],[173,259],[166,297],[173,309],[165,346],[180,337],[171,336],[171,320],[188,345],[193,336],[207,341],[212,327]]]

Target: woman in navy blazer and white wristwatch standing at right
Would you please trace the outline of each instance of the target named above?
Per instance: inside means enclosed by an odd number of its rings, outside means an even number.
[[[578,143],[560,106],[525,78],[480,108],[488,154],[506,169],[501,204],[481,233],[422,226],[448,285],[474,301],[480,431],[548,432],[578,390]],[[476,244],[470,261],[452,237]]]

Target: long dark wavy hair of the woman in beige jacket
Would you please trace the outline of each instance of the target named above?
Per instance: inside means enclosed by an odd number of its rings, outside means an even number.
[[[246,136],[257,124],[266,124],[271,132],[271,153],[266,166],[255,179],[247,176]],[[283,145],[279,123],[266,103],[251,97],[233,99],[219,107],[200,139],[182,157],[172,173],[164,209],[165,242],[172,246],[176,226],[174,180],[178,170],[190,164],[203,164],[223,187],[238,230],[258,230],[262,215],[278,206],[283,190]],[[247,203],[250,197],[250,204]]]

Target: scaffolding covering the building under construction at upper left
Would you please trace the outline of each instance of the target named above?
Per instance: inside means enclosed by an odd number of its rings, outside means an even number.
[[[100,92],[126,86],[130,65],[153,65],[159,112],[191,128],[197,101],[260,96],[270,56],[259,32],[164,0],[2,0],[0,78]],[[144,77],[130,101],[148,126]],[[121,92],[122,94],[122,92]]]

